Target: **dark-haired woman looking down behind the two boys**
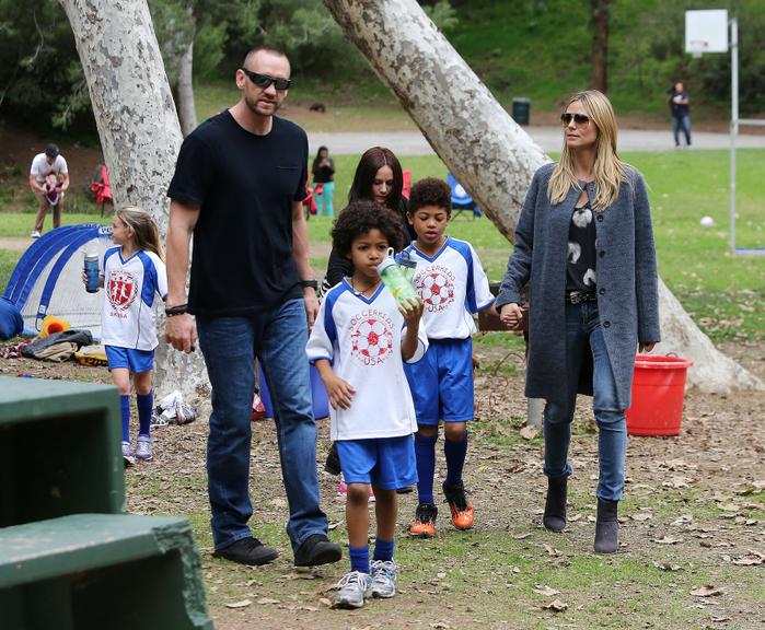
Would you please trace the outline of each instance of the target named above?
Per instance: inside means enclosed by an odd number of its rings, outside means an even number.
[[[402,225],[405,228],[404,234],[408,234],[409,244],[417,237],[414,229],[406,220],[406,212],[409,209],[409,202],[402,195],[404,189],[404,173],[398,159],[390,149],[382,147],[372,147],[364,151],[359,160],[359,165],[356,167],[353,183],[348,191],[348,202],[353,201],[374,201],[381,206],[385,206],[394,210],[401,217]],[[337,284],[343,278],[353,275],[353,265],[350,259],[340,256],[333,248],[327,262],[327,272],[322,281],[321,293],[326,293],[331,288]]]

